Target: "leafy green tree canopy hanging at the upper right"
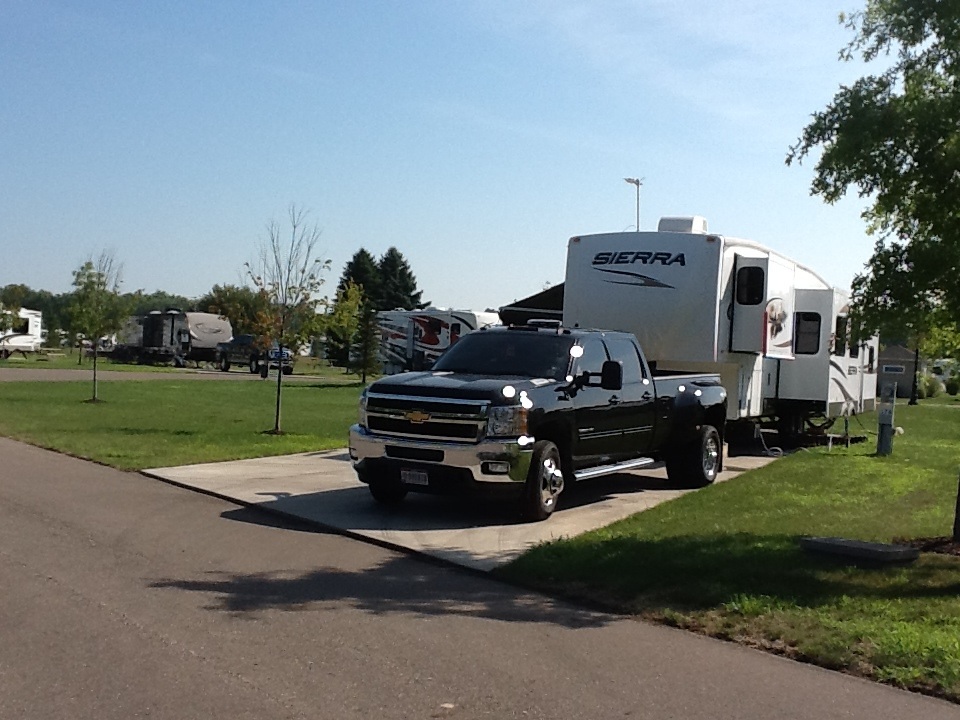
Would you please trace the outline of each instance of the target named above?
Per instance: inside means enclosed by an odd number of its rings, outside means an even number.
[[[960,4],[867,0],[841,17],[854,34],[841,58],[879,69],[816,112],[787,163],[819,150],[813,194],[855,189],[879,236],[854,299],[870,329],[899,322],[922,336],[935,314],[960,317]]]

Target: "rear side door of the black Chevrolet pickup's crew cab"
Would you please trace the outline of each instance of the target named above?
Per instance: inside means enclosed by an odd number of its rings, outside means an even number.
[[[610,398],[610,422],[621,431],[618,451],[625,457],[649,454],[653,446],[656,395],[651,378],[645,377],[634,342],[624,336],[604,338],[611,360],[623,366],[623,388]],[[619,396],[619,397],[618,397]]]

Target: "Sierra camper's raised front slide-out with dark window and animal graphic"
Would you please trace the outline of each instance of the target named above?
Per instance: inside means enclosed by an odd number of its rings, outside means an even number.
[[[793,359],[793,265],[776,257],[734,258],[730,352]]]

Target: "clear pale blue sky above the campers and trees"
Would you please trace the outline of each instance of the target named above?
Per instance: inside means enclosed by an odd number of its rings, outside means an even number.
[[[784,157],[863,72],[843,0],[0,0],[0,285],[64,292],[111,249],[124,290],[238,283],[311,211],[332,292],[396,246],[434,305],[563,281],[572,235],[663,215],[849,287],[853,197]]]

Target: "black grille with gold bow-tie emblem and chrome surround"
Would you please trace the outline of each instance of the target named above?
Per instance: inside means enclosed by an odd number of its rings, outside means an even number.
[[[393,437],[480,442],[487,429],[484,401],[399,395],[367,396],[367,427]]]

